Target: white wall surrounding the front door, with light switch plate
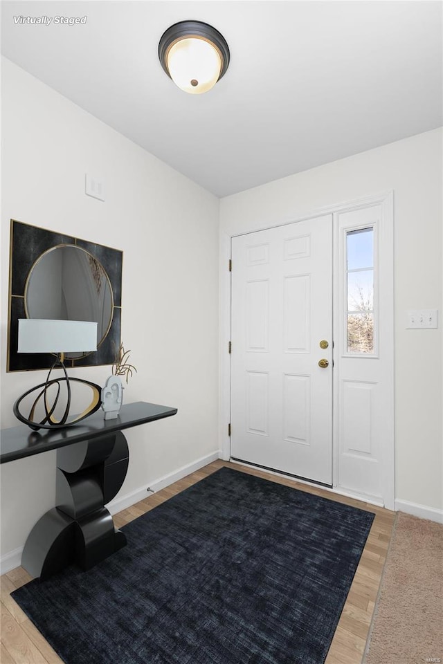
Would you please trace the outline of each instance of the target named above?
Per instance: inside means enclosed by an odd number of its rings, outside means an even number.
[[[220,201],[228,235],[394,191],[396,497],[442,510],[442,130],[384,145]],[[440,329],[406,330],[406,310],[438,308]],[[410,506],[408,506],[410,507]]]

